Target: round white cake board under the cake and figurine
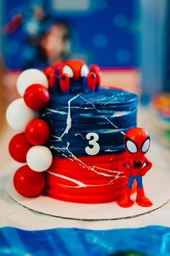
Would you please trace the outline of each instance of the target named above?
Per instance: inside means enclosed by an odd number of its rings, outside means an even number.
[[[26,198],[17,193],[12,181],[9,182],[7,191],[19,205],[35,210],[38,213],[86,221],[112,220],[140,216],[160,208],[168,202],[170,198],[169,180],[169,170],[153,167],[150,173],[146,174],[143,184],[146,195],[153,202],[153,206],[149,208],[140,207],[136,203],[130,208],[120,208],[115,202],[87,205],[63,202],[46,196]],[[133,197],[135,198],[135,195],[133,195]]]

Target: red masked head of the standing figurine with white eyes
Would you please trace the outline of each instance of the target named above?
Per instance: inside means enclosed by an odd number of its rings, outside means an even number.
[[[149,149],[150,137],[145,129],[135,127],[129,129],[125,134],[125,148],[130,153],[131,157],[141,158]]]

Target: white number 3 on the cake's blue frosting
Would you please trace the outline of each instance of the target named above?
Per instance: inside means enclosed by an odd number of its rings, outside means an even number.
[[[92,137],[92,139],[91,139]],[[86,153],[88,155],[97,155],[97,153],[99,153],[99,144],[97,143],[97,140],[99,140],[99,135],[97,135],[97,133],[95,132],[89,132],[87,135],[86,135],[86,139],[89,140],[89,145],[92,145],[93,147],[86,147],[85,150],[86,150]]]

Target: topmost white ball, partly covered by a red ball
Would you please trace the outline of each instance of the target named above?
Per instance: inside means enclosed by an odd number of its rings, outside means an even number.
[[[17,91],[23,96],[24,91],[32,84],[41,84],[48,88],[48,79],[39,69],[26,69],[17,79]]]

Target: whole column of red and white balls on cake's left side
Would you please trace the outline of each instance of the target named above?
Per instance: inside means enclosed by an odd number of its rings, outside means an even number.
[[[9,142],[9,153],[14,160],[27,165],[14,174],[14,187],[25,197],[35,197],[45,185],[43,171],[53,161],[52,153],[44,146],[50,129],[38,118],[38,111],[50,100],[48,79],[39,69],[24,70],[17,79],[17,90],[22,98],[13,101],[6,110],[9,126],[19,132]]]

